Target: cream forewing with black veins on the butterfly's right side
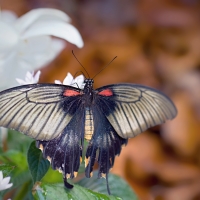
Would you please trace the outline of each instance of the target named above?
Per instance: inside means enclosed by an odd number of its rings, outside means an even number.
[[[134,137],[177,114],[166,95],[146,86],[115,84],[95,92],[96,103],[122,138]]]

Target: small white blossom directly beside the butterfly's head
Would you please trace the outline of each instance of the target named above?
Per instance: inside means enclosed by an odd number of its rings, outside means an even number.
[[[70,73],[67,73],[67,76],[65,77],[63,83],[59,80],[55,80],[56,84],[63,84],[63,85],[71,85],[73,87],[78,87],[80,89],[84,88],[84,76],[79,75],[75,79]]]

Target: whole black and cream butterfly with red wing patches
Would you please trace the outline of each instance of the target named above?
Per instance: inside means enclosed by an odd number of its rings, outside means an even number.
[[[92,176],[97,160],[98,176],[107,180],[115,156],[128,138],[173,119],[176,114],[167,96],[136,84],[94,90],[93,80],[85,79],[83,90],[31,84],[0,92],[0,126],[35,138],[52,168],[62,172],[67,188],[73,186],[66,179],[76,177],[82,161],[84,138],[89,141],[86,177]]]

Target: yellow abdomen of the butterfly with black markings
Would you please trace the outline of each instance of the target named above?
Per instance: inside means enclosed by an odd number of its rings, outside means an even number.
[[[91,140],[94,133],[93,113],[90,107],[85,108],[85,136],[86,140]]]

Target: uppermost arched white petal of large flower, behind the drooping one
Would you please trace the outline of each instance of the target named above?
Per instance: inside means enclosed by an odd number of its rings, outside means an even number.
[[[32,25],[37,20],[42,20],[44,18],[59,19],[66,22],[70,22],[70,18],[64,12],[53,9],[53,8],[38,8],[29,11],[20,18],[18,18],[15,27],[19,32],[25,31],[30,25]]]

